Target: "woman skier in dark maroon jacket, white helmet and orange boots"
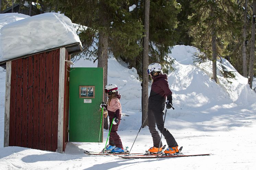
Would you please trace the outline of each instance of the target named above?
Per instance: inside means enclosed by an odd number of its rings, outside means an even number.
[[[148,149],[151,153],[157,153],[162,151],[162,141],[160,141],[160,135],[155,129],[155,125],[158,127],[159,131],[162,133],[167,142],[168,148],[164,151],[165,154],[174,154],[178,152],[178,144],[175,141],[173,135],[164,128],[164,107],[165,100],[167,97],[166,108],[172,108],[172,91],[169,88],[167,81],[167,75],[162,74],[162,66],[158,63],[152,63],[148,66],[148,74],[151,76],[153,82],[151,86],[151,91],[149,95],[148,104],[148,125],[149,131],[153,138],[154,146]],[[160,143],[161,142],[161,143]],[[159,147],[160,144],[160,148]]]

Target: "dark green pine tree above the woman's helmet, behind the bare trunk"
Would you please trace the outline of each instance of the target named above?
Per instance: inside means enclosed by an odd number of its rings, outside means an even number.
[[[173,60],[168,56],[171,48],[178,42],[179,35],[176,32],[178,19],[177,15],[181,11],[181,5],[175,0],[151,0],[149,15],[149,63],[160,63],[164,73],[172,68]],[[143,23],[144,21],[144,1],[137,2],[136,17]],[[138,40],[142,47],[142,39]],[[135,67],[138,74],[142,76],[142,52],[135,58],[122,58]]]

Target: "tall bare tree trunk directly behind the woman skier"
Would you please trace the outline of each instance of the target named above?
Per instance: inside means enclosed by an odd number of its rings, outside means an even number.
[[[142,60],[142,123],[148,115],[148,99],[149,99],[149,75],[147,69],[149,66],[149,5],[150,1],[145,0],[144,9],[144,35],[143,38],[143,60]],[[148,126],[148,120],[146,120],[142,127]]]

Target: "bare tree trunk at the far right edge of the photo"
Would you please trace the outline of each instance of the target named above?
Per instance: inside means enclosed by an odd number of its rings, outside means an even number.
[[[250,63],[249,63],[249,79],[248,83],[250,88],[253,87],[253,64],[254,64],[254,49],[255,49],[255,18],[256,18],[256,0],[253,0],[253,18],[252,18],[252,38],[251,38],[251,51],[250,51]]]

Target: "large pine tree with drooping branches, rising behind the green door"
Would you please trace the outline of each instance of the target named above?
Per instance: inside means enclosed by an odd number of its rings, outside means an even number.
[[[133,58],[141,51],[137,41],[143,36],[143,26],[137,18],[131,17],[129,4],[125,0],[64,0],[58,3],[61,12],[73,23],[80,24],[82,56],[98,59],[98,67],[104,68],[104,86],[109,53],[115,57]],[[108,128],[107,119],[104,119],[104,128]]]

